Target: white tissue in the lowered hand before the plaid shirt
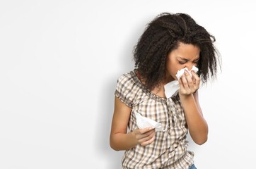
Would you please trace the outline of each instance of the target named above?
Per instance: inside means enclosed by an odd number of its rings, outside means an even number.
[[[152,127],[156,130],[156,132],[159,132],[159,131],[165,132],[165,130],[163,130],[163,126],[161,125],[161,123],[158,123],[150,118],[145,118],[140,113],[137,113],[137,112],[134,112],[134,113],[136,116],[136,123],[139,129]]]

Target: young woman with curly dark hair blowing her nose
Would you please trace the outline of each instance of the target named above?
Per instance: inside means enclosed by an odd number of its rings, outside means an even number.
[[[216,75],[214,41],[185,13],[161,13],[146,27],[134,49],[135,68],[117,80],[115,91],[110,146],[125,150],[123,168],[195,168],[186,135],[189,131],[197,144],[207,140],[198,89]],[[191,71],[178,79],[182,68]],[[175,80],[178,94],[167,98],[165,84]],[[161,123],[164,130],[139,128],[135,113]]]

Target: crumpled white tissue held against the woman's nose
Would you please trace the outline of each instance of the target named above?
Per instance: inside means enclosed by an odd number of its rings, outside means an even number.
[[[194,73],[198,72],[198,68],[194,65],[192,66],[192,69],[190,71],[187,68],[182,68],[181,70],[178,70],[178,72],[176,73],[176,77],[178,78],[178,80],[180,80],[180,77],[182,77],[182,75],[185,73],[185,70],[187,70],[187,72],[190,73],[191,76],[192,70],[194,71]],[[178,80],[173,80],[172,82],[165,84],[164,88],[166,98],[169,98],[170,96],[176,96],[178,94],[178,89],[180,89],[180,84]]]

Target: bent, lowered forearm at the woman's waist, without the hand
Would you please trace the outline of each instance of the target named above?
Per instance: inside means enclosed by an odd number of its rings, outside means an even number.
[[[110,146],[116,151],[132,149],[137,144],[139,142],[136,140],[134,132],[115,133],[110,137]]]

